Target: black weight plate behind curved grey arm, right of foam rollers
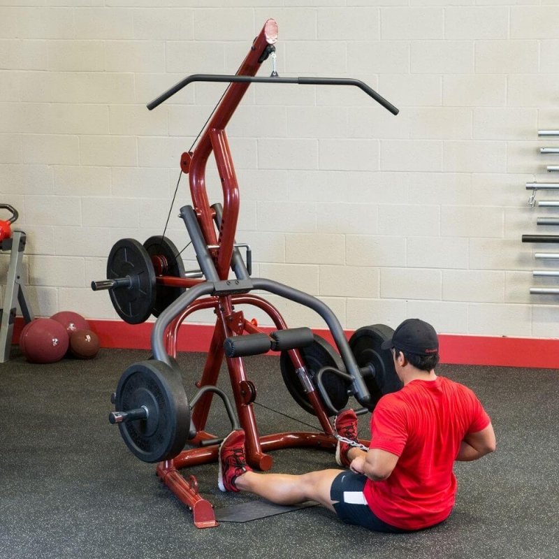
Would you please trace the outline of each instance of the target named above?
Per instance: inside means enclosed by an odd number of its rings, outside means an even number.
[[[305,367],[307,368],[307,372],[313,380],[314,375],[324,367],[333,367],[345,372],[342,358],[337,354],[331,344],[324,340],[324,337],[315,334],[314,342],[307,347],[301,347],[299,351],[301,358],[303,358],[303,363],[305,363]],[[282,370],[285,386],[287,386],[293,399],[300,407],[305,409],[305,412],[316,415],[314,408],[307,398],[307,393],[303,390],[303,386],[295,372],[295,367],[293,367],[293,363],[287,351],[282,351],[282,355],[279,358],[279,366]],[[332,400],[333,406],[336,409],[345,407],[347,400],[349,400],[349,394],[347,393],[347,384],[344,380],[341,377],[337,377],[333,372],[324,372],[322,375],[322,383]],[[328,412],[328,410],[326,410],[326,413],[328,415],[333,415],[331,412]]]

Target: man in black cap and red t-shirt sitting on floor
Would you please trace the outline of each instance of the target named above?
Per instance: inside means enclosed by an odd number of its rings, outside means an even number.
[[[378,532],[411,532],[444,521],[456,496],[454,460],[477,460],[495,450],[491,419],[470,389],[435,374],[439,340],[430,324],[405,320],[382,348],[391,349],[404,386],[373,410],[368,451],[337,443],[336,461],[351,471],[253,472],[245,460],[245,433],[235,430],[219,449],[219,488],[250,491],[277,504],[314,500],[342,521]],[[355,412],[341,412],[335,429],[357,441]]]

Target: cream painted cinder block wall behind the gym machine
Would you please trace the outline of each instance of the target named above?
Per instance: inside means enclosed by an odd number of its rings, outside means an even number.
[[[348,330],[418,316],[443,333],[559,337],[558,299],[528,292],[559,280],[532,278],[542,247],[521,243],[553,233],[525,190],[550,180],[537,130],[559,125],[559,6],[540,0],[6,0],[1,202],[28,235],[34,313],[117,319],[89,284],[116,240],[162,233],[180,154],[224,85],[145,103],[185,75],[235,73],[269,17],[280,75],[358,78],[400,115],[356,88],[249,89],[228,136],[254,275],[319,296]],[[168,227],[180,248],[186,178]],[[208,183],[220,201],[214,168]],[[1,254],[1,279],[7,266]],[[273,300],[290,326],[324,326]]]

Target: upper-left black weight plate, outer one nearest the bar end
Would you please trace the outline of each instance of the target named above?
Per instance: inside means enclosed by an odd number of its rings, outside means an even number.
[[[155,272],[150,256],[135,239],[120,239],[110,249],[107,278],[129,277],[129,287],[109,290],[112,306],[129,324],[140,324],[152,314],[155,300]]]

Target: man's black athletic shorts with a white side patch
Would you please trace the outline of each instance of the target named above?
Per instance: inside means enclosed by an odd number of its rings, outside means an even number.
[[[367,478],[363,474],[356,474],[351,470],[341,472],[334,479],[330,489],[330,498],[334,501],[333,506],[338,518],[348,524],[363,526],[369,530],[375,530],[375,532],[404,534],[414,531],[402,530],[386,524],[373,514],[363,495],[365,481]]]

